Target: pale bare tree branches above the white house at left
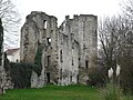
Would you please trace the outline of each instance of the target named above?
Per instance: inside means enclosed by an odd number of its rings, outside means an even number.
[[[10,48],[10,44],[18,42],[18,29],[21,20],[11,0],[0,0],[0,18],[4,28],[4,44]]]

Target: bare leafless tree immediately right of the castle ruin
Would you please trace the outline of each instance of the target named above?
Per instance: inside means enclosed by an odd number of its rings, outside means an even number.
[[[119,46],[119,20],[106,18],[100,22],[99,37],[103,50],[103,58],[108,68],[114,67],[116,61],[116,48]]]

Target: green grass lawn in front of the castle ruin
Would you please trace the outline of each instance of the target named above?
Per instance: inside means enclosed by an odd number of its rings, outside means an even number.
[[[88,86],[48,86],[42,89],[7,90],[0,100],[103,100],[96,88]]]

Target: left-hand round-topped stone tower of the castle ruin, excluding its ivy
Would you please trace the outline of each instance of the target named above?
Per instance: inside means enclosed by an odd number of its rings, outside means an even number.
[[[50,73],[50,79],[53,79],[57,74],[57,18],[53,16],[48,16],[44,12],[33,11],[27,17],[25,23],[21,29],[21,51],[20,59],[24,62],[34,63],[34,57],[37,54],[38,47],[43,47],[42,50],[42,72],[39,79],[37,79],[34,72],[32,73],[32,82],[38,82],[35,80],[49,80],[48,76]],[[49,61],[48,61],[49,60]],[[51,72],[51,70],[54,70]],[[41,79],[40,79],[41,78]],[[35,80],[33,80],[35,79]],[[35,86],[37,84],[37,86]],[[34,87],[42,84],[33,83]]]

